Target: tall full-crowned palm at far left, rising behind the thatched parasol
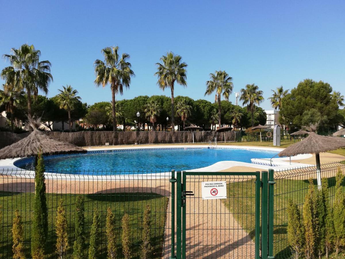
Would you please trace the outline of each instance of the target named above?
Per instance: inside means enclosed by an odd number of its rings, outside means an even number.
[[[33,45],[23,44],[19,49],[11,49],[13,55],[4,54],[4,59],[11,64],[1,71],[1,78],[13,79],[16,91],[25,91],[28,96],[28,116],[31,116],[31,95],[36,96],[38,90],[48,93],[48,87],[53,80],[50,74],[50,62],[39,61],[41,51],[36,50]]]

